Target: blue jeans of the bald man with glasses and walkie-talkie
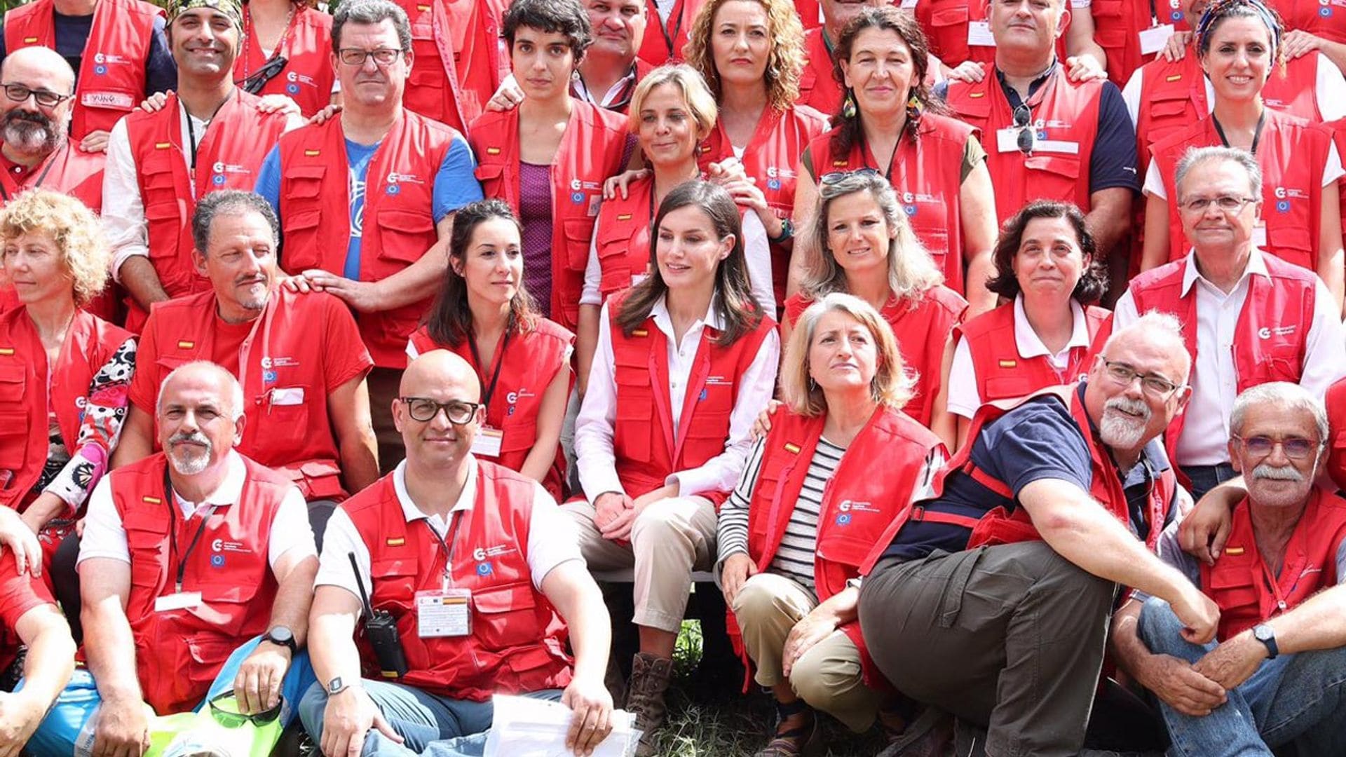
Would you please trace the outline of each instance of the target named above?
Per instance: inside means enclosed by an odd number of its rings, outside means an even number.
[[[495,706],[489,699],[450,699],[382,680],[365,679],[361,686],[388,725],[404,739],[402,744],[394,744],[377,730],[370,730],[365,734],[362,756],[481,757],[485,753],[486,737],[495,717]],[[561,690],[548,688],[525,696],[559,702]],[[326,710],[327,690],[315,683],[299,702],[299,719],[315,742],[322,742]]]

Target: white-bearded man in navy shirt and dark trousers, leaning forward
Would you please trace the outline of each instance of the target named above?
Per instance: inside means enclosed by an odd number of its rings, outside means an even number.
[[[860,628],[903,694],[985,726],[987,754],[1077,754],[1116,585],[1218,612],[1154,546],[1176,486],[1154,439],[1187,400],[1174,318],[1113,333],[1085,381],[984,405],[860,586]],[[905,520],[905,523],[903,523]]]

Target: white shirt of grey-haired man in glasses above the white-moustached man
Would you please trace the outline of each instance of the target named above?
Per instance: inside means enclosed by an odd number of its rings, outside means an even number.
[[[1175,462],[1186,466],[1229,462],[1229,409],[1238,396],[1233,345],[1236,339],[1250,338],[1237,334],[1238,315],[1248,299],[1249,277],[1268,275],[1267,261],[1254,248],[1242,277],[1226,295],[1197,271],[1194,256],[1189,253],[1183,264],[1182,294],[1186,296],[1197,288],[1197,362],[1186,420],[1174,450]],[[1327,387],[1346,373],[1346,331],[1322,280],[1316,283],[1314,298],[1314,321],[1308,327],[1299,385],[1322,400]],[[1139,318],[1131,290],[1117,300],[1112,318],[1113,333]]]

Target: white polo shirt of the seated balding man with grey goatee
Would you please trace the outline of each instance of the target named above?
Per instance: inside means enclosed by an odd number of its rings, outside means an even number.
[[[206,496],[201,502],[188,502],[178,492],[174,492],[174,501],[182,511],[183,517],[190,517],[198,511],[211,505],[236,506],[242,494],[244,482],[248,480],[248,469],[244,466],[238,453],[229,451],[229,470],[219,486]],[[131,550],[127,546],[127,529],[121,524],[121,515],[112,504],[112,481],[114,475],[104,475],[93,494],[89,496],[89,513],[85,516],[85,532],[79,539],[79,559],[82,563],[92,558],[108,558],[131,563]],[[267,562],[272,571],[281,556],[291,550],[299,550],[297,558],[316,556],[314,547],[314,531],[308,525],[308,504],[297,486],[291,486],[285,492],[285,498],[276,508],[276,517],[271,521],[271,535],[267,539]]]

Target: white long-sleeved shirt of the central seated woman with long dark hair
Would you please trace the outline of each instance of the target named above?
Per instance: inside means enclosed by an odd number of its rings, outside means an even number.
[[[680,426],[686,384],[692,376],[697,349],[701,346],[707,326],[723,329],[724,322],[715,310],[719,294],[711,298],[705,318],[697,321],[682,335],[680,343],[673,337],[673,319],[668,304],[661,298],[650,310],[656,327],[664,333],[669,356],[669,409],[673,427]],[[608,304],[599,315],[598,348],[594,350],[594,364],[590,369],[588,393],[575,420],[575,457],[579,466],[580,486],[592,502],[606,492],[626,493],[616,475],[616,462],[612,451],[612,427],[616,422],[616,374],[612,364],[612,326],[608,318]],[[751,439],[748,431],[758,414],[771,399],[775,388],[775,369],[779,364],[781,338],[771,330],[762,341],[748,369],[738,377],[738,397],[730,414],[730,435],[724,440],[724,451],[705,461],[705,465],[690,470],[674,471],[665,484],[676,484],[678,496],[688,497],[703,492],[732,492],[743,473]]]

